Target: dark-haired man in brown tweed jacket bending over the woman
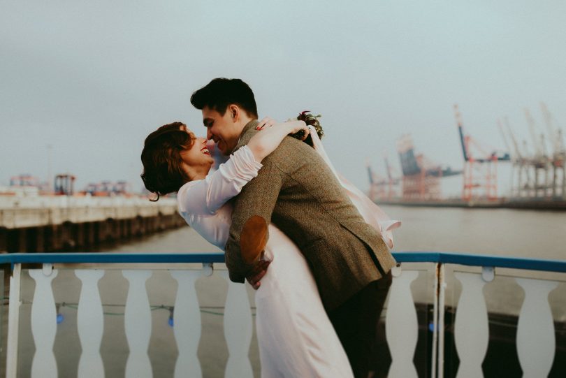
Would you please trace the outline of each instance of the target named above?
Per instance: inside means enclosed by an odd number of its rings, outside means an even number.
[[[207,138],[228,155],[256,130],[254,94],[239,79],[217,78],[191,96]],[[257,288],[268,263],[258,257],[273,222],[305,255],[328,317],[356,377],[368,377],[379,314],[396,261],[316,151],[285,138],[235,198],[226,266],[233,282]]]

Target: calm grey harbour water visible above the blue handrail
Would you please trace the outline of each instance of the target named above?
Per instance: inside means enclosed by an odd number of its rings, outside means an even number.
[[[401,228],[395,251],[436,251],[566,259],[566,212],[382,206]],[[194,230],[180,228],[104,252],[220,252]]]

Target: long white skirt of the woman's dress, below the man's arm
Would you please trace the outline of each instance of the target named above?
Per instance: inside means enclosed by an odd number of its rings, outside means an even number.
[[[256,292],[261,377],[353,377],[305,257],[273,225],[264,258],[272,262]]]

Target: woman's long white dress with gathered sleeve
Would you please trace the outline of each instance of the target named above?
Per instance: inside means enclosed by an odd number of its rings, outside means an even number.
[[[314,143],[330,163],[318,138],[314,138]],[[208,242],[224,249],[232,213],[227,201],[237,196],[260,168],[261,163],[254,160],[251,150],[247,146],[240,148],[204,180],[188,182],[179,189],[180,214]],[[372,207],[371,201],[365,203],[361,191],[344,180],[341,182],[358,208]],[[390,230],[398,224],[384,224],[381,221],[387,220],[386,215],[372,212],[375,210],[372,208],[368,210],[368,214],[361,212],[364,217],[373,218],[366,221],[375,223],[378,230],[386,225],[384,240],[392,245]],[[376,214],[381,218],[377,219]],[[256,291],[261,377],[353,377],[307,261],[273,224],[269,226],[265,259],[272,262]]]

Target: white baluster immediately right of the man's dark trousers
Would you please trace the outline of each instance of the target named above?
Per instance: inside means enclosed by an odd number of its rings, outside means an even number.
[[[393,268],[393,283],[389,291],[385,321],[387,344],[391,351],[389,377],[417,377],[413,357],[419,324],[411,282],[418,276],[419,272],[401,272],[400,267]]]

